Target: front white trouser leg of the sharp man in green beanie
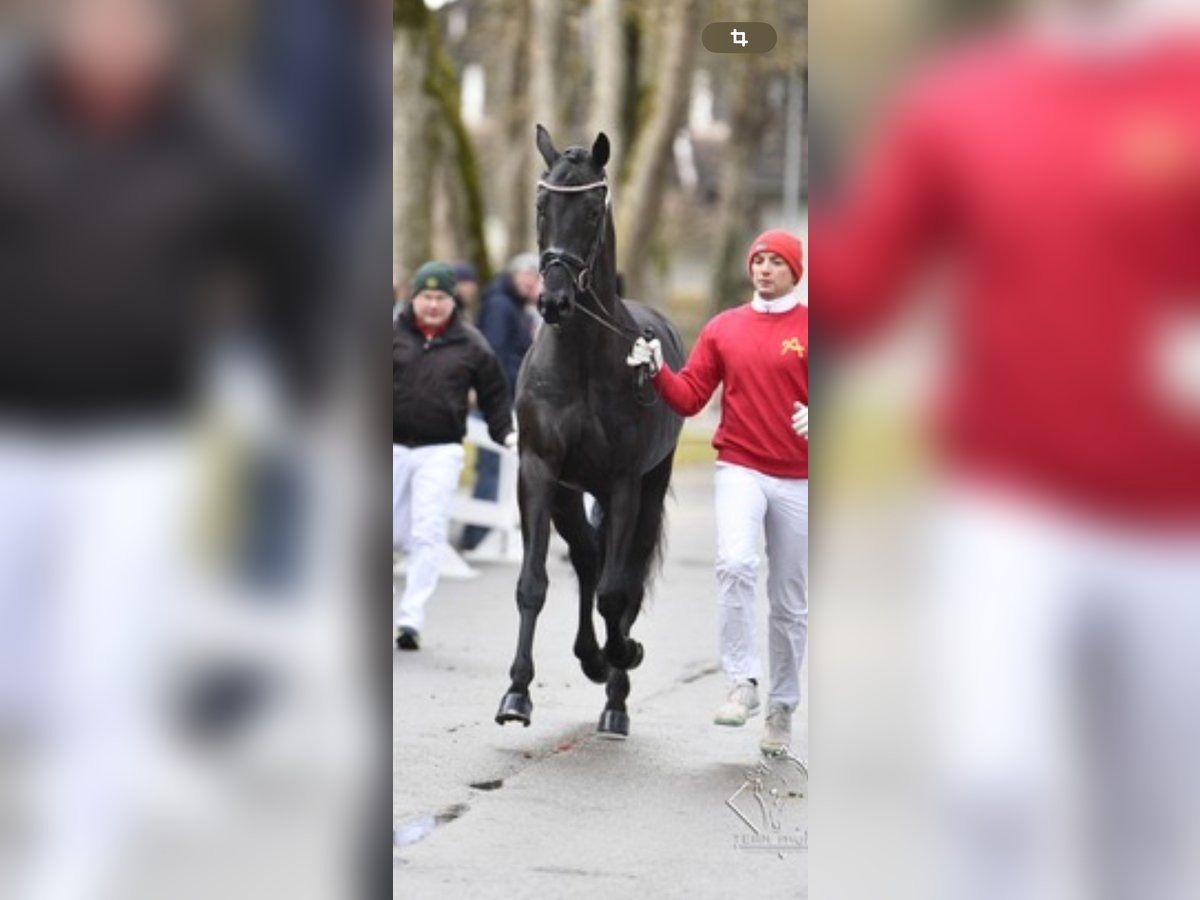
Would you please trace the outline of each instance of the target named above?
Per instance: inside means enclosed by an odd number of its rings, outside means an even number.
[[[462,474],[462,444],[434,444],[413,450],[412,541],[397,628],[420,631],[425,624],[425,605],[438,586],[442,553],[450,532],[450,502]]]

